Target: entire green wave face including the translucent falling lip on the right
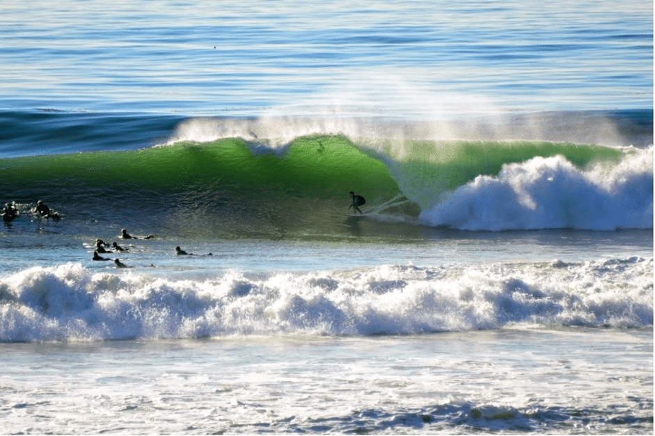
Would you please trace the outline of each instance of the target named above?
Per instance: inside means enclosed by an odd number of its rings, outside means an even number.
[[[285,147],[226,138],[144,150],[0,160],[0,195],[69,218],[183,234],[342,232],[350,191],[365,210],[416,218],[443,193],[503,165],[561,155],[615,162],[608,147],[538,142],[368,141],[303,136]]]

